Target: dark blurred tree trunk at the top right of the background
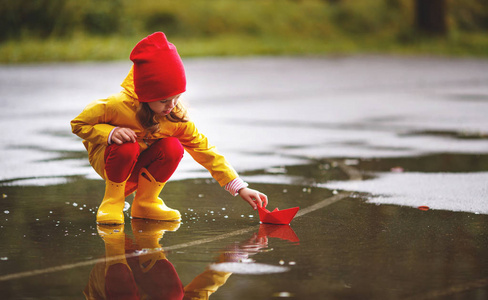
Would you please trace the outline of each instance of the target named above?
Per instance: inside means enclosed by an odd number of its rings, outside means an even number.
[[[415,23],[418,30],[428,34],[446,35],[446,0],[415,0]]]

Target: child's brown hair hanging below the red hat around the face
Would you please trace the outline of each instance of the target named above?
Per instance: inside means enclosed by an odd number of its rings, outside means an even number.
[[[140,102],[136,117],[146,131],[146,134],[152,134],[159,130],[159,121],[161,118],[166,118],[174,123],[189,121],[188,111],[181,101],[178,101],[173,110],[166,116],[155,114],[146,102]]]

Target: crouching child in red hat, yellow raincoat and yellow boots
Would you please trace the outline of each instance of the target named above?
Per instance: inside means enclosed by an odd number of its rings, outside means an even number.
[[[232,195],[253,209],[267,205],[266,195],[247,188],[232,166],[188,119],[178,101],[186,90],[183,63],[162,32],[141,40],[122,92],[90,103],[71,121],[90,164],[105,179],[105,195],[97,212],[99,224],[123,224],[125,197],[137,190],[133,218],[181,219],[158,198],[186,150]]]

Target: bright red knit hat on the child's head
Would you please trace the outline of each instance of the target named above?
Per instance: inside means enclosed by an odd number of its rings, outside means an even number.
[[[162,32],[142,39],[132,49],[134,86],[139,102],[163,100],[186,91],[183,62]]]

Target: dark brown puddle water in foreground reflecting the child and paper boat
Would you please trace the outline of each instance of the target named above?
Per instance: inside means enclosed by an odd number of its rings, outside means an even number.
[[[473,158],[456,159],[464,165]],[[342,165],[415,169],[413,161]],[[4,299],[84,299],[84,292],[104,299],[114,291],[155,299],[487,295],[487,215],[378,206],[355,193],[315,187],[310,183],[347,177],[327,161],[248,175],[263,174],[302,178],[253,184],[272,200],[270,209],[301,207],[290,226],[260,225],[257,212],[208,179],[165,187],[162,196],[181,211],[181,223],[127,216],[125,226],[108,228],[95,224],[102,181],[2,186],[0,292]]]

